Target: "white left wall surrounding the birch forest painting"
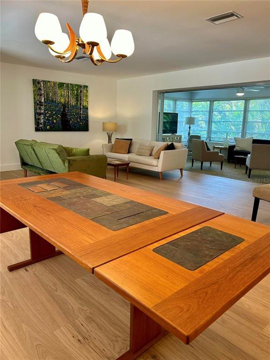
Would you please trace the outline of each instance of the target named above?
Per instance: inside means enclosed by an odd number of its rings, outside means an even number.
[[[102,153],[101,144],[107,142],[107,135],[102,132],[102,121],[116,120],[115,79],[8,63],[1,63],[0,66],[0,170],[20,168],[14,144],[19,138],[90,147],[90,153]],[[35,132],[32,78],[88,85],[89,131]]]

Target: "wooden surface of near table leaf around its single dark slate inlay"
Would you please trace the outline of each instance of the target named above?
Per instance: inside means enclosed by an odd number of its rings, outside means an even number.
[[[152,251],[173,238],[212,226],[244,241],[196,270]],[[95,268],[95,275],[189,343],[270,270],[269,227],[221,215]]]

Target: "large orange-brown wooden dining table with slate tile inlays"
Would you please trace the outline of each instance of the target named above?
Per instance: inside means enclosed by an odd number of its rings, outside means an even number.
[[[29,228],[30,258],[9,271],[64,253],[130,302],[130,347],[118,360],[168,331],[189,343],[270,269],[269,226],[153,192],[69,172],[3,180],[0,194],[0,231]],[[195,269],[158,253],[185,239],[190,252],[201,230],[238,242]]]

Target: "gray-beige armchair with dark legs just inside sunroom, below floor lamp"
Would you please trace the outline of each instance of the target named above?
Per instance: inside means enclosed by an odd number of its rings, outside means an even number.
[[[212,161],[220,161],[220,169],[222,170],[224,155],[220,154],[218,151],[209,151],[206,148],[204,140],[192,140],[192,166],[194,160],[200,161],[200,169],[202,170],[202,165],[204,161],[210,161],[210,166]]]

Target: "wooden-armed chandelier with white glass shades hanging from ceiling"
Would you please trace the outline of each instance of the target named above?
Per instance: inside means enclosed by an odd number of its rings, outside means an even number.
[[[134,51],[132,33],[129,30],[116,30],[109,44],[103,16],[95,12],[87,12],[88,2],[89,0],[81,0],[83,18],[79,26],[79,37],[66,22],[68,37],[62,32],[58,17],[49,12],[39,14],[34,27],[35,36],[62,62],[72,61],[79,47],[94,65],[101,65],[104,61],[118,62],[130,56]],[[116,55],[115,59],[110,59],[111,52]]]

